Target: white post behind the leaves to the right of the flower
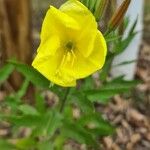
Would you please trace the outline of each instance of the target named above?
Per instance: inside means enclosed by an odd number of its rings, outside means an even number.
[[[122,0],[118,0],[120,4]],[[130,43],[128,48],[121,54],[115,57],[113,61],[113,66],[120,64],[125,61],[137,60],[138,52],[142,41],[142,30],[143,30],[143,0],[132,0],[127,11],[129,17],[129,27],[131,27],[138,16],[138,22],[135,31],[138,31],[137,35],[134,37],[133,41]],[[132,80],[134,78],[136,69],[136,62],[131,64],[121,65],[117,67],[112,67],[111,75],[112,77],[118,77],[120,75],[125,75],[126,80]]]

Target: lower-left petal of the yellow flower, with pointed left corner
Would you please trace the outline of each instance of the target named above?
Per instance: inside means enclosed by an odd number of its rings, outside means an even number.
[[[43,50],[39,51],[32,66],[53,83],[64,87],[75,86],[76,81],[74,77],[64,73],[61,71],[61,68],[59,68],[63,57],[63,50],[58,49],[54,56],[45,55],[41,57],[40,53],[42,53],[42,51]]]

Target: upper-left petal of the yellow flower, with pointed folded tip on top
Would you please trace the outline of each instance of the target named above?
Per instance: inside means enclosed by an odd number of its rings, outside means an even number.
[[[66,28],[79,29],[78,22],[59,9],[50,6],[43,21],[41,40],[45,41],[52,35],[62,37]]]

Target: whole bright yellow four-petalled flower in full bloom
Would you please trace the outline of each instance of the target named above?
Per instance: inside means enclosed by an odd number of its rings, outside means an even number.
[[[92,13],[79,1],[69,0],[59,9],[50,6],[32,65],[51,82],[71,87],[102,68],[106,52]]]

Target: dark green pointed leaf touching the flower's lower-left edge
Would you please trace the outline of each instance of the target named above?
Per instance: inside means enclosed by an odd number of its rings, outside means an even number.
[[[10,64],[14,65],[21,74],[23,74],[26,79],[31,81],[34,85],[43,88],[49,88],[49,80],[46,79],[42,74],[36,71],[33,67],[26,64],[18,63],[16,61],[9,61]]]

